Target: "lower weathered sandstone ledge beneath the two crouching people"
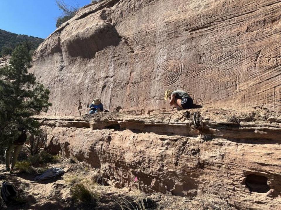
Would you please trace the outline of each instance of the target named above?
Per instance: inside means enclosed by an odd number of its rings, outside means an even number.
[[[281,124],[256,108],[159,115],[35,116],[48,148],[98,168],[108,183],[180,196],[212,194],[241,210],[281,209]],[[194,128],[200,111],[203,127]]]

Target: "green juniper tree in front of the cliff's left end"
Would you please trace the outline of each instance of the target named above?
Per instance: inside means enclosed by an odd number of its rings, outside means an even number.
[[[18,127],[36,133],[39,123],[31,118],[46,112],[49,90],[28,73],[31,56],[25,45],[15,48],[10,64],[0,68],[0,145],[8,146],[18,137]]]

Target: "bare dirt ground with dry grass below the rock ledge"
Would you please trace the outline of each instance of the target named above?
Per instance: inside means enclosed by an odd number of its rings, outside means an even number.
[[[86,210],[86,209],[116,209],[121,207],[119,204],[124,204],[124,199],[133,201],[133,198],[140,195],[138,189],[119,189],[109,184],[108,186],[96,184],[94,192],[98,195],[99,201],[96,205],[85,204],[78,202],[72,198],[70,189],[73,183],[80,180],[94,180],[99,174],[98,169],[88,169],[82,165],[71,163],[69,160],[63,160],[57,164],[49,164],[48,167],[63,168],[66,173],[57,178],[35,182],[33,181],[37,174],[27,174],[15,171],[13,173],[3,173],[5,179],[16,186],[19,197],[24,201],[23,204],[9,204],[8,206],[3,200],[0,202],[0,208],[5,210]],[[0,169],[4,169],[4,164],[0,164]],[[73,179],[73,176],[78,175],[78,178]],[[146,209],[163,209],[163,210],[198,210],[198,209],[217,209],[230,210],[227,202],[221,200],[214,195],[206,195],[205,197],[180,197],[171,194],[151,193],[142,194]],[[118,204],[118,203],[119,204]],[[133,207],[132,207],[133,209]]]

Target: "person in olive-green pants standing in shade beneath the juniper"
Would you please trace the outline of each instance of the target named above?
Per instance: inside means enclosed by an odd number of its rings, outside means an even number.
[[[19,128],[18,131],[21,132],[18,139],[16,141],[14,141],[11,146],[6,148],[6,151],[5,151],[6,169],[4,169],[3,172],[10,171],[10,170],[13,171],[13,169],[16,165],[16,162],[18,160],[18,154],[20,153],[20,150],[23,147],[24,142],[26,141],[26,129]],[[14,151],[14,153],[13,153],[13,160],[12,160],[11,169],[10,169],[10,155],[11,155],[12,151]]]

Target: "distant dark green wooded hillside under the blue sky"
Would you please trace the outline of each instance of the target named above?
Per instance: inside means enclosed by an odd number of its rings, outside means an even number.
[[[2,57],[3,54],[11,54],[13,49],[20,43],[26,43],[30,53],[33,53],[43,41],[44,39],[42,38],[13,34],[0,29],[0,57]]]

